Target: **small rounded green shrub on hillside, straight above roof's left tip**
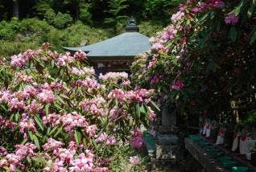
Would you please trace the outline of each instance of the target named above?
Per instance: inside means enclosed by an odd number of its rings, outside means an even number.
[[[52,20],[52,25],[57,27],[58,29],[64,29],[68,27],[69,24],[72,23],[72,17],[69,14],[62,14],[58,12],[56,17]]]

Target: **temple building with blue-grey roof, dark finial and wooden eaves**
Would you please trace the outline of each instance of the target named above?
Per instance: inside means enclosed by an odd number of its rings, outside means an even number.
[[[126,32],[84,47],[63,47],[64,51],[85,51],[89,63],[97,73],[130,72],[134,56],[151,49],[149,38],[140,34],[133,18],[126,26]]]

